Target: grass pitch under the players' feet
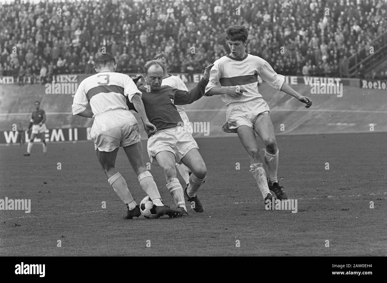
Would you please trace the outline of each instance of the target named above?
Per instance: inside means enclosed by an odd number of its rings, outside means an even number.
[[[236,135],[228,136],[197,138],[208,170],[198,193],[204,213],[189,208],[187,218],[156,220],[122,219],[126,208],[90,142],[49,143],[46,156],[35,143],[30,157],[22,156],[26,146],[0,147],[0,198],[31,199],[29,214],[0,211],[0,255],[387,255],[386,133],[277,136],[278,177],[298,199],[297,213],[265,210],[247,153]],[[116,169],[140,203],[145,193],[122,149]],[[161,169],[152,165],[151,173],[174,206]]]

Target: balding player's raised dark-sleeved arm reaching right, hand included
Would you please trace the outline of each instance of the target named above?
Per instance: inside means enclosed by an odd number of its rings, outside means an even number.
[[[212,66],[214,66],[214,64],[210,64],[205,67],[203,78],[199,81],[196,87],[194,87],[190,91],[175,89],[173,97],[175,105],[191,104],[192,102],[197,101],[200,97],[204,95],[205,87],[209,82],[210,71]]]

